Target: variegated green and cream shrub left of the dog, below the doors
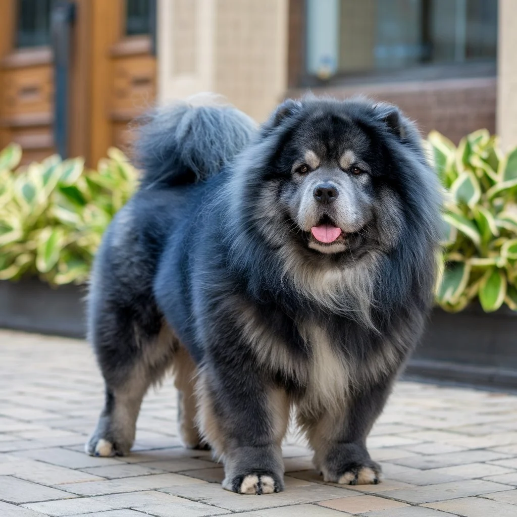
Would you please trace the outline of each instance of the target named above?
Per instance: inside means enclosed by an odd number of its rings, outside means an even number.
[[[124,154],[108,156],[89,171],[82,158],[58,156],[18,168],[16,144],[0,153],[0,280],[86,280],[102,233],[136,187]]]

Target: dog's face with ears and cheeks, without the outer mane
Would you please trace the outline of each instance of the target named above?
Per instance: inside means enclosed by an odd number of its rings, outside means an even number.
[[[256,218],[273,245],[295,242],[353,260],[394,245],[402,200],[387,181],[396,158],[386,140],[400,139],[404,131],[398,111],[377,114],[372,105],[336,101],[291,103],[270,124],[280,144],[262,178]]]

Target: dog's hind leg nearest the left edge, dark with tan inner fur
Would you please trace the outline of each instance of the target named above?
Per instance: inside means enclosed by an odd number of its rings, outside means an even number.
[[[108,317],[110,323],[115,321],[113,314]],[[94,336],[105,382],[104,408],[86,444],[86,452],[96,456],[129,453],[144,395],[171,367],[178,347],[177,339],[165,324],[154,334],[144,333],[134,322],[108,328],[109,332],[99,325],[98,335]]]

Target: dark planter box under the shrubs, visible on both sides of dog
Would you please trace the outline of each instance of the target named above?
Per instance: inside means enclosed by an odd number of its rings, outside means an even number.
[[[84,285],[0,281],[0,327],[84,338],[85,294]],[[517,313],[435,309],[404,376],[517,389]]]

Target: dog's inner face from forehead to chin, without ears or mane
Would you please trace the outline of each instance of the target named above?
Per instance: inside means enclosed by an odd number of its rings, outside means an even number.
[[[322,253],[352,252],[374,217],[372,145],[351,120],[321,116],[297,127],[282,154],[280,196],[295,234]]]

